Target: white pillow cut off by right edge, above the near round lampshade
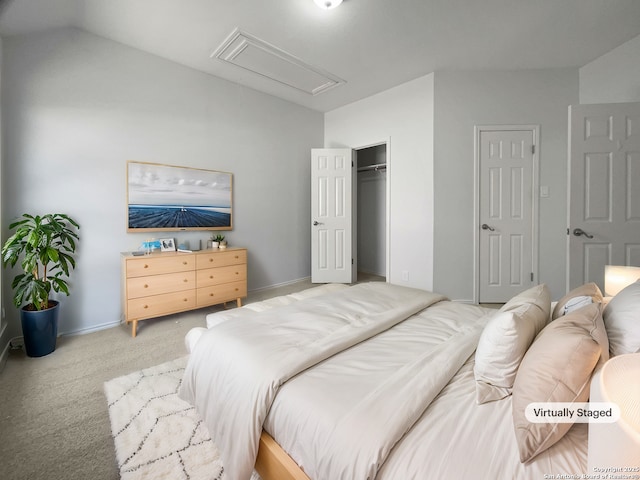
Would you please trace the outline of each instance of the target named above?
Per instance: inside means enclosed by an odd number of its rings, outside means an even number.
[[[612,357],[640,350],[640,280],[613,297],[602,317]]]

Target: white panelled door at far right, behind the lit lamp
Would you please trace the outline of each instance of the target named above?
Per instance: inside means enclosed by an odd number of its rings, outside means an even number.
[[[640,103],[569,107],[567,288],[640,266]]]

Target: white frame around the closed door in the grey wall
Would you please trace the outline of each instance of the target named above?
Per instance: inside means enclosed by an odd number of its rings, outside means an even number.
[[[475,125],[473,127],[473,303],[480,301],[480,136],[491,131],[531,131],[533,134],[533,185],[531,202],[531,271],[535,284],[539,282],[538,225],[540,210],[540,125]]]

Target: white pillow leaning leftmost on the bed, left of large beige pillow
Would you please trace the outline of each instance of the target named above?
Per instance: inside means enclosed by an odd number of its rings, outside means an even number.
[[[487,323],[476,349],[476,402],[511,394],[520,362],[549,319],[551,297],[546,285],[515,296]]]

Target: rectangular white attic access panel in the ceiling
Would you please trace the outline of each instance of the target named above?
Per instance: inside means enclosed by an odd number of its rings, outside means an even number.
[[[237,28],[211,54],[211,58],[214,57],[309,95],[318,95],[345,83]]]

